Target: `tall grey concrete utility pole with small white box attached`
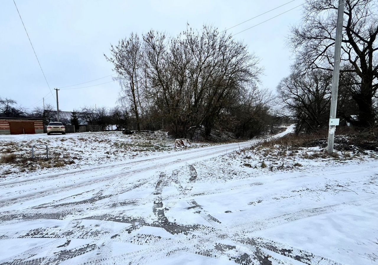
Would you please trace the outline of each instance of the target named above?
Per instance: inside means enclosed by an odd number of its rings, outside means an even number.
[[[333,153],[333,141],[335,139],[336,125],[339,125],[339,119],[336,118],[337,95],[339,89],[340,59],[341,59],[341,40],[342,40],[342,24],[344,21],[344,1],[339,0],[336,37],[335,37],[335,63],[333,64],[332,75],[332,96],[331,96],[331,112],[328,130],[328,154]]]

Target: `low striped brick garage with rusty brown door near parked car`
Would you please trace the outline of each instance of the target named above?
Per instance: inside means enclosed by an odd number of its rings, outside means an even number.
[[[37,118],[0,118],[0,134],[43,133],[43,121]]]

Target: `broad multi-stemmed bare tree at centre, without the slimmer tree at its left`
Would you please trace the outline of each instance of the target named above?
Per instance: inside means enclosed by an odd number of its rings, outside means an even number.
[[[243,43],[204,26],[167,41],[154,31],[143,37],[150,94],[176,136],[190,127],[211,132],[222,111],[258,80],[259,60]]]

